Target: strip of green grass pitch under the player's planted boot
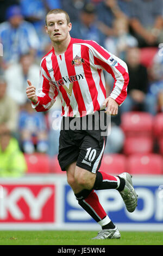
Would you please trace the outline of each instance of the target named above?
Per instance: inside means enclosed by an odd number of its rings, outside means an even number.
[[[0,231],[0,245],[163,245],[163,232],[121,232],[121,239],[91,240],[96,231]]]

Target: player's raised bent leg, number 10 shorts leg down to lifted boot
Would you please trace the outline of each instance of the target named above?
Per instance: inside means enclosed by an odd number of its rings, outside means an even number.
[[[104,171],[98,171],[101,165],[105,141],[106,138],[102,136],[99,141],[90,135],[85,136],[80,146],[74,177],[77,183],[84,189],[117,189],[126,204],[127,210],[133,212],[137,206],[137,195],[131,182],[131,176],[127,173],[114,176],[106,174]],[[81,197],[81,193],[76,195],[76,198]]]

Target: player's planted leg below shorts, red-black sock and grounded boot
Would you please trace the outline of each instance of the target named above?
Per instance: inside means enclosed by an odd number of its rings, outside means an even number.
[[[76,173],[77,171],[77,173]],[[94,190],[89,189],[93,186],[93,182],[95,182],[95,174],[79,168],[76,166],[76,163],[72,163],[66,166],[67,173],[67,182],[70,184],[73,192],[78,200],[79,205],[102,227],[102,230],[105,230],[105,233],[98,234],[98,239],[113,239],[120,238],[121,235],[117,229],[117,227],[111,222],[111,219],[106,212],[104,211],[102,205],[99,203],[99,199]],[[76,175],[75,175],[76,173]],[[85,177],[87,177],[90,182],[86,182],[86,186],[84,186],[84,182],[78,181],[76,177],[79,173],[82,173]],[[83,176],[82,175],[82,176]],[[80,176],[81,177],[81,176]],[[83,179],[83,177],[82,177]],[[93,182],[91,183],[91,180]],[[101,237],[101,238],[99,238]]]

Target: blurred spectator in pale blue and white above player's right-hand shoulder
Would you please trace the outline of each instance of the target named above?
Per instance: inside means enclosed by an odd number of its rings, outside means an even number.
[[[114,20],[113,29],[114,35],[105,40],[105,49],[124,60],[127,48],[138,45],[137,39],[129,34],[129,23],[126,18]]]

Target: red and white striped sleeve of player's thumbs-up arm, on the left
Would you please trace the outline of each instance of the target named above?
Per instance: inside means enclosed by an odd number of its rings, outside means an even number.
[[[46,67],[46,59],[43,59],[40,65],[40,82],[37,92],[38,101],[32,103],[32,108],[37,112],[47,111],[54,104],[58,95],[57,88],[53,85]]]

